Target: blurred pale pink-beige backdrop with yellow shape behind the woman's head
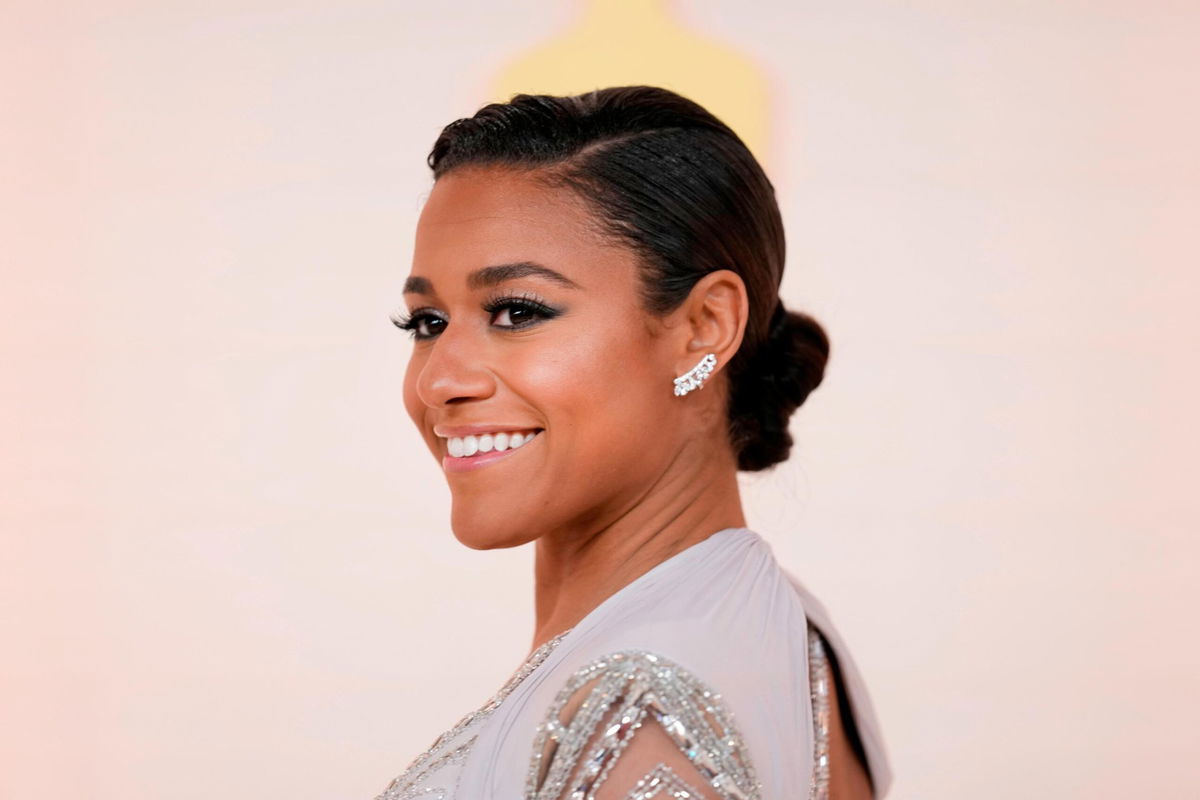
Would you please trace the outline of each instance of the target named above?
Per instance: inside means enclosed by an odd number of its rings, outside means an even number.
[[[0,798],[366,800],[526,655],[388,312],[438,131],[571,36],[776,184],[833,355],[746,512],[890,796],[1200,795],[1200,6],[643,6],[5,4]]]

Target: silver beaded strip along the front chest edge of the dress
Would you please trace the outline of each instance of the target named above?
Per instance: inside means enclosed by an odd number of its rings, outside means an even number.
[[[478,738],[479,726],[492,711],[500,706],[512,690],[517,687],[534,669],[541,666],[559,642],[570,631],[563,631],[540,648],[529,654],[508,682],[492,696],[487,703],[466,715],[452,728],[438,736],[430,748],[413,759],[408,768],[383,790],[376,800],[444,800],[454,796],[458,780],[457,770],[451,775],[449,766],[461,766]]]

